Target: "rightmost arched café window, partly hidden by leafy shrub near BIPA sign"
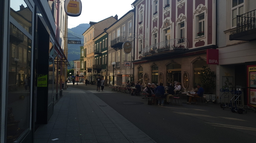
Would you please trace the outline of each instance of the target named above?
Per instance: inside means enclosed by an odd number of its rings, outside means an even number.
[[[208,67],[206,61],[204,60],[199,60],[194,63],[194,87],[196,87],[197,84],[201,84],[199,72],[203,70],[203,66]]]

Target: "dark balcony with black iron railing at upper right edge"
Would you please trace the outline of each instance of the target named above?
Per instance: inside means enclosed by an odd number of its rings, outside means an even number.
[[[230,40],[256,40],[255,12],[256,9],[236,16],[236,33],[230,35]]]

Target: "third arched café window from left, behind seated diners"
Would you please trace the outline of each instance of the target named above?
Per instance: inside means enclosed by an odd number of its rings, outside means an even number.
[[[173,83],[174,81],[181,81],[181,64],[178,63],[167,65],[167,83]]]

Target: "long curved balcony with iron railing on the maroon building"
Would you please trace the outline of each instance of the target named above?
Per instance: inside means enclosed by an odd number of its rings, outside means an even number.
[[[142,59],[161,58],[184,53],[188,49],[187,39],[169,39],[142,49]]]

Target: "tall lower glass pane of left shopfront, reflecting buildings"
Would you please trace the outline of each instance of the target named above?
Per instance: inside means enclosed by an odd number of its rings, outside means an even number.
[[[31,39],[10,23],[7,142],[29,129]]]

